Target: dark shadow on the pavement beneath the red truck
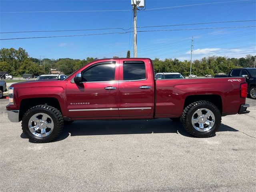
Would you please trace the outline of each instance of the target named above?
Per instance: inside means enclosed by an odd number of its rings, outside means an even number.
[[[218,132],[238,130],[221,124]],[[60,136],[53,142],[66,139],[70,136],[91,136],[91,135],[119,135],[119,134],[157,134],[174,133],[186,137],[191,136],[183,128],[180,122],[174,122],[168,118],[154,120],[87,120],[75,121],[65,125]],[[215,135],[214,135],[215,136]],[[21,138],[27,138],[23,133]]]

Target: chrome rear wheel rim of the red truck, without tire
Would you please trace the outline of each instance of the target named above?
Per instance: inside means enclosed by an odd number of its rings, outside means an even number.
[[[192,125],[200,132],[208,132],[212,129],[215,123],[213,112],[206,108],[200,108],[192,115]]]

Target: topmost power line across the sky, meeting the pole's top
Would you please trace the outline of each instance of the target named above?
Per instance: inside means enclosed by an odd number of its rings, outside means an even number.
[[[201,3],[201,4],[190,4],[190,5],[180,5],[172,7],[161,7],[161,8],[151,8],[147,10],[160,10],[160,9],[169,9],[169,8],[178,8],[178,7],[188,7],[188,6],[198,6],[198,5],[208,5],[208,4],[220,4],[220,3],[230,3],[230,2],[244,2],[248,0],[238,0],[238,1],[227,1],[227,2],[212,2],[212,3]],[[62,12],[120,12],[120,11],[131,11],[131,10],[80,10],[80,11],[20,11],[20,12],[0,12],[4,13],[62,13]]]

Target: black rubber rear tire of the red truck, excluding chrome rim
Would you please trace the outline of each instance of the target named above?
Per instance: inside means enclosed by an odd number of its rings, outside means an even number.
[[[192,125],[192,116],[193,116],[194,112],[196,112],[196,110],[198,110],[200,108],[206,108],[208,110],[211,110],[215,116],[214,126],[207,132],[200,132],[200,131],[196,130],[194,128],[194,126]],[[182,124],[183,124],[184,128],[186,129],[186,131],[188,133],[190,133],[191,135],[193,135],[195,137],[205,138],[205,137],[210,137],[210,136],[215,135],[215,132],[220,127],[221,114],[220,114],[220,110],[211,102],[197,101],[197,102],[193,102],[193,103],[189,104],[188,106],[186,106],[186,108],[183,110],[181,120],[182,120]]]

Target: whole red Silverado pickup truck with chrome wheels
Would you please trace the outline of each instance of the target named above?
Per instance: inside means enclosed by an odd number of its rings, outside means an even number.
[[[193,136],[214,135],[221,116],[248,113],[245,78],[155,80],[148,58],[101,59],[64,80],[12,84],[11,122],[33,142],[50,142],[74,120],[181,119]]]

